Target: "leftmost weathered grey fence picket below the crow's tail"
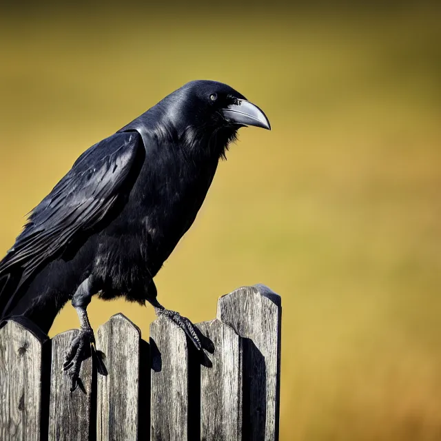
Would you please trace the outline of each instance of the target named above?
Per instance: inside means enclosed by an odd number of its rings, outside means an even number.
[[[45,338],[10,320],[0,329],[0,440],[40,441]]]

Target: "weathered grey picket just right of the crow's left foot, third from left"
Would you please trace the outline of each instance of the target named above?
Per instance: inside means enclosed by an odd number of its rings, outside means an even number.
[[[136,441],[139,418],[141,332],[123,314],[112,316],[96,333],[107,376],[97,376],[96,439]]]

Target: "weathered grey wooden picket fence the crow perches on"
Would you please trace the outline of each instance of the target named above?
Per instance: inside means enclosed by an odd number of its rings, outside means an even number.
[[[70,392],[63,354],[75,330],[52,340],[9,321],[0,329],[1,441],[278,440],[280,296],[264,285],[218,299],[197,324],[214,352],[196,351],[169,319],[150,342],[122,314],[96,332],[94,358]]]

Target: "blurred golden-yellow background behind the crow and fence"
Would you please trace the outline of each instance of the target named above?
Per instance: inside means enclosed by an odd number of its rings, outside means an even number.
[[[83,150],[228,83],[273,130],[240,130],[158,298],[198,322],[240,285],[282,296],[281,440],[440,440],[441,9],[207,5],[3,10],[1,254]],[[77,326],[67,305],[50,334]]]

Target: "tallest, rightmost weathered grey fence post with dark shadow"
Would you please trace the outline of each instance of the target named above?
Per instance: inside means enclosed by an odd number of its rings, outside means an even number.
[[[243,338],[244,440],[278,440],[281,316],[280,296],[265,285],[218,300],[217,318]]]

